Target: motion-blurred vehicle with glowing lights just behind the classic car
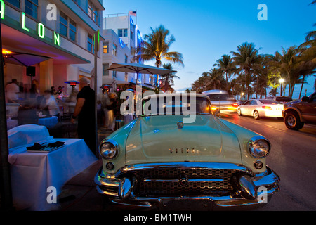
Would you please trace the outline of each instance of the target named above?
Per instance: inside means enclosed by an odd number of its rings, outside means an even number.
[[[214,89],[209,91],[203,91],[202,94],[209,97],[212,106],[218,108],[219,112],[221,110],[234,112],[237,110],[236,101],[233,98],[230,98],[227,91]]]

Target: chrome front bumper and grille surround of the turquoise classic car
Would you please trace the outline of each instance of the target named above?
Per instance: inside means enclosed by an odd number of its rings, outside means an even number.
[[[115,174],[104,174],[102,167],[95,176],[95,182],[97,184],[98,193],[107,195],[107,197],[113,202],[119,205],[130,205],[138,207],[152,207],[153,205],[164,205],[164,203],[169,200],[209,200],[218,207],[235,207],[235,206],[247,206],[247,205],[261,205],[262,202],[257,199],[251,200],[244,198],[244,196],[239,195],[239,193],[231,195],[198,195],[198,196],[180,196],[180,197],[139,197],[134,195],[133,187],[129,188],[131,192],[129,193],[129,198],[122,200],[119,198],[119,184],[121,179],[118,175],[125,174],[125,172],[131,172],[138,169],[172,169],[173,167],[199,167],[199,168],[212,168],[212,169],[236,169],[239,172],[249,174],[253,181],[256,189],[259,187],[266,188],[266,194],[270,197],[272,194],[279,191],[279,176],[272,171],[268,166],[266,166],[266,171],[253,174],[250,169],[242,166],[235,165],[231,163],[221,163],[221,162],[179,162],[179,163],[150,163],[150,164],[139,164],[139,165],[129,165],[123,167]],[[114,178],[115,177],[115,178]],[[203,181],[216,182],[217,179],[197,179]],[[220,180],[218,178],[218,180]],[[146,182],[159,182],[159,181],[174,181],[179,182],[179,179],[145,179]],[[194,179],[187,179],[187,181],[194,181]]]

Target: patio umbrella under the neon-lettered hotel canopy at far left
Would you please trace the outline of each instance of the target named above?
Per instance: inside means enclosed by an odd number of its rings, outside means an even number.
[[[45,60],[50,59],[47,56],[39,56],[29,53],[22,52],[13,52],[13,51],[4,51],[4,63],[11,63],[15,65],[24,65],[26,67],[30,65],[35,65],[41,63]]]

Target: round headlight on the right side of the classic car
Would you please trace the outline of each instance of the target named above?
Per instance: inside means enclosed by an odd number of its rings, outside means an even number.
[[[270,153],[271,143],[263,136],[254,136],[249,139],[247,149],[254,158],[265,158]]]

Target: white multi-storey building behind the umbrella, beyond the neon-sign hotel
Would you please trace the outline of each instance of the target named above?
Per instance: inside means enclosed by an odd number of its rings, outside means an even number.
[[[135,73],[106,70],[112,63],[135,62],[137,46],[142,37],[136,25],[136,17],[129,13],[105,15],[103,18],[103,84],[136,84]],[[151,75],[139,75],[138,84],[152,88]]]

